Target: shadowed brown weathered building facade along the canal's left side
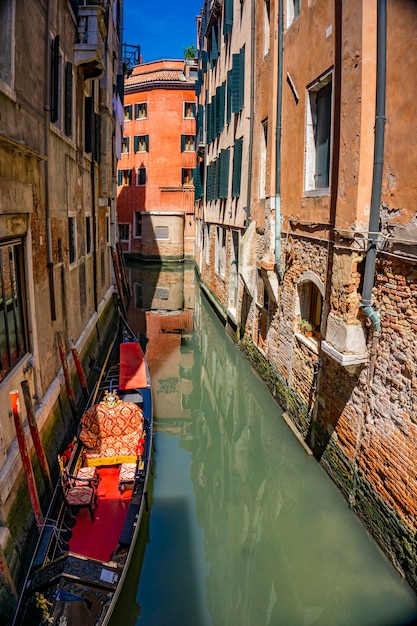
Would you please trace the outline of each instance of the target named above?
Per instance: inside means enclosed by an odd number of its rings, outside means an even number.
[[[9,392],[28,382],[52,471],[72,423],[58,333],[88,375],[111,308],[123,122],[123,3],[18,5],[0,6],[0,540],[16,579],[33,514]],[[24,406],[21,395],[22,419]]]

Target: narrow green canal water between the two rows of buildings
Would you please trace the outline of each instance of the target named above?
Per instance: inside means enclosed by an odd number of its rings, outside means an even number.
[[[112,624],[402,626],[417,597],[308,456],[188,268],[131,265],[156,454]]]

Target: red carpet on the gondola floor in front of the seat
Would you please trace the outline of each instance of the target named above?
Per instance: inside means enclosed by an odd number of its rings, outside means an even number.
[[[78,513],[72,539],[71,552],[99,561],[108,561],[117,546],[132,492],[118,490],[118,467],[99,467],[98,506],[93,522],[87,509]]]

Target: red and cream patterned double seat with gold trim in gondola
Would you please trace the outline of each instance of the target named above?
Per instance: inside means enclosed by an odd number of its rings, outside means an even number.
[[[84,465],[134,463],[143,436],[143,413],[134,402],[90,407],[81,418]]]

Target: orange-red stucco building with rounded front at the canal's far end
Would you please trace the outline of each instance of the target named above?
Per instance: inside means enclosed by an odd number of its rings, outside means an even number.
[[[160,60],[125,79],[119,237],[139,259],[194,257],[195,76],[192,60]]]

